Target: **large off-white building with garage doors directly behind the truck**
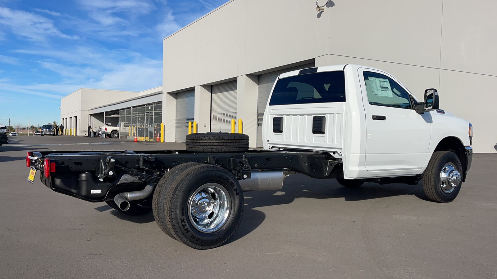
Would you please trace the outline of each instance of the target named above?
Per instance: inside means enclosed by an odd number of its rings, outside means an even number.
[[[333,0],[321,12],[315,0],[230,0],[163,41],[165,140],[184,141],[185,120],[216,132],[240,118],[250,146],[262,146],[279,73],[359,64],[418,99],[437,88],[440,107],[473,124],[475,152],[496,152],[496,10],[493,0]]]

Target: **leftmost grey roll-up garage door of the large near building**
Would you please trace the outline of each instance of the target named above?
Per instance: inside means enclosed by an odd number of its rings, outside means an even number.
[[[195,115],[195,91],[176,94],[176,141],[185,142],[188,135],[188,122]]]

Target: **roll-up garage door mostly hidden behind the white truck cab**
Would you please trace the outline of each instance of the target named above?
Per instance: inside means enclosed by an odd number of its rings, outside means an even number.
[[[305,64],[302,66],[287,68],[283,70],[272,71],[264,74],[259,74],[259,82],[257,89],[257,147],[262,147],[262,119],[264,117],[264,110],[269,99],[269,93],[273,88],[274,81],[279,74],[306,68],[314,67],[314,63]]]

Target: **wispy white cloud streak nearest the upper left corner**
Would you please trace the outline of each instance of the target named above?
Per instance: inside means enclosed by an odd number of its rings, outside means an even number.
[[[0,7],[0,25],[4,25],[12,33],[24,36],[33,41],[45,41],[47,36],[67,39],[78,39],[78,36],[68,36],[53,25],[53,21],[38,14]]]

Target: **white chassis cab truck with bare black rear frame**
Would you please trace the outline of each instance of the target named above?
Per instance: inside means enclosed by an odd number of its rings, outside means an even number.
[[[418,100],[364,66],[280,74],[262,125],[263,150],[249,150],[244,134],[196,133],[186,150],[30,151],[28,180],[39,171],[55,192],[124,214],[153,211],[168,236],[209,249],[237,229],[244,191],[279,190],[295,173],[349,188],[422,181],[428,199],[447,203],[471,166],[473,127],[439,109],[437,90]]]

